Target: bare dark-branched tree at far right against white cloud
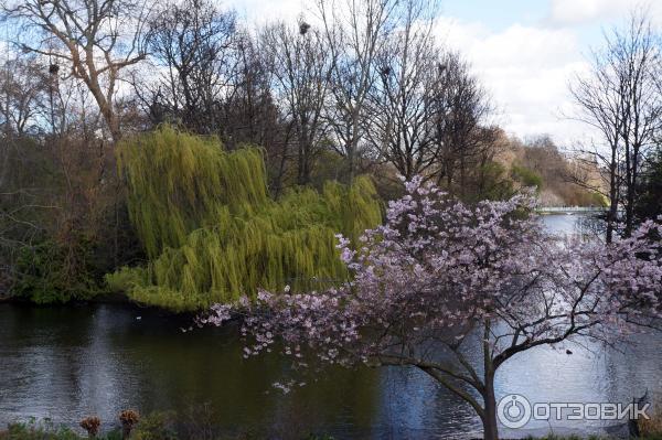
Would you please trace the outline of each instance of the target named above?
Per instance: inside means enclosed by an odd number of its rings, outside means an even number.
[[[606,172],[610,201],[607,242],[612,240],[619,206],[624,211],[623,234],[633,226],[633,206],[642,162],[660,135],[662,94],[658,35],[643,13],[632,13],[624,31],[605,35],[606,46],[592,53],[591,69],[578,75],[570,93],[578,106],[576,119],[592,127],[599,139],[583,149]]]

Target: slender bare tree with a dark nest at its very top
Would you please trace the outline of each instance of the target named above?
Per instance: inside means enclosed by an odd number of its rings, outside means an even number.
[[[297,183],[310,183],[314,160],[328,133],[323,109],[329,95],[333,61],[324,35],[300,20],[263,32],[263,50],[275,79],[274,89],[286,120],[291,124],[297,157]]]

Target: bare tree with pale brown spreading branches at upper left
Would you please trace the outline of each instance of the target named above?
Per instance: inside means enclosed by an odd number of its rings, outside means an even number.
[[[94,96],[115,141],[121,137],[114,106],[120,73],[147,55],[143,26],[147,1],[26,0],[3,4],[4,17],[25,32],[18,43],[60,64],[82,81]]]

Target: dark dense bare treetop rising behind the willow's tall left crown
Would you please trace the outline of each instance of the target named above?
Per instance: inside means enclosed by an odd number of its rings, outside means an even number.
[[[220,103],[237,65],[235,13],[207,0],[169,2],[150,21],[149,49],[160,72],[135,81],[154,122],[175,120],[200,133],[222,130]],[[151,79],[151,81],[150,81]]]

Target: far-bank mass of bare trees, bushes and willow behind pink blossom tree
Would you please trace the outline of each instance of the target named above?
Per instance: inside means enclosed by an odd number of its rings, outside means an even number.
[[[340,281],[332,233],[381,222],[398,175],[471,203],[605,203],[548,138],[492,121],[437,13],[320,0],[252,29],[206,0],[4,2],[0,296],[190,310]]]

